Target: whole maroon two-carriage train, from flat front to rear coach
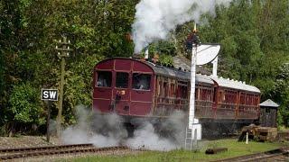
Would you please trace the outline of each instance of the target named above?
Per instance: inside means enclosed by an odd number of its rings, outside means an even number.
[[[94,68],[93,108],[124,117],[163,118],[188,112],[191,72],[134,58],[108,58]],[[222,77],[196,76],[195,116],[201,123],[251,123],[260,91]]]

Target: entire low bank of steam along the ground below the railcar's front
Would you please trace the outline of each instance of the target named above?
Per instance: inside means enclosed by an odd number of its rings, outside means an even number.
[[[165,121],[132,121],[137,125],[133,137],[128,137],[124,119],[115,113],[101,115],[86,110],[83,105],[76,107],[76,113],[77,124],[61,133],[65,144],[92,143],[98,148],[126,145],[152,150],[171,150],[183,145],[185,118],[180,111],[173,112]]]

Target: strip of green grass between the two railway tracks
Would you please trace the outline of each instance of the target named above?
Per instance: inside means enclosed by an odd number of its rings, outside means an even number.
[[[106,162],[158,162],[158,161],[212,161],[228,157],[238,157],[247,154],[254,154],[263,152],[270,149],[280,148],[284,146],[283,143],[270,143],[270,142],[256,142],[250,141],[248,144],[245,142],[238,142],[237,139],[219,139],[212,141],[203,141],[200,143],[201,149],[198,151],[189,150],[172,150],[167,152],[162,151],[145,151],[135,155],[123,156],[94,156],[94,157],[78,157],[70,159],[69,161],[106,161]],[[221,152],[216,155],[206,155],[207,148],[228,148],[227,152]]]

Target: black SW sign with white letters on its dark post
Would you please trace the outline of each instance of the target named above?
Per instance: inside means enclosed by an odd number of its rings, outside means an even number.
[[[50,141],[49,123],[51,121],[51,101],[58,101],[57,89],[42,89],[42,100],[48,101],[47,121],[46,121],[46,139]]]

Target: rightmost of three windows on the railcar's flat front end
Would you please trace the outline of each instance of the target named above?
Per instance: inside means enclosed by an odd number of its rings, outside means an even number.
[[[151,75],[134,73],[133,88],[149,90],[151,88]]]

